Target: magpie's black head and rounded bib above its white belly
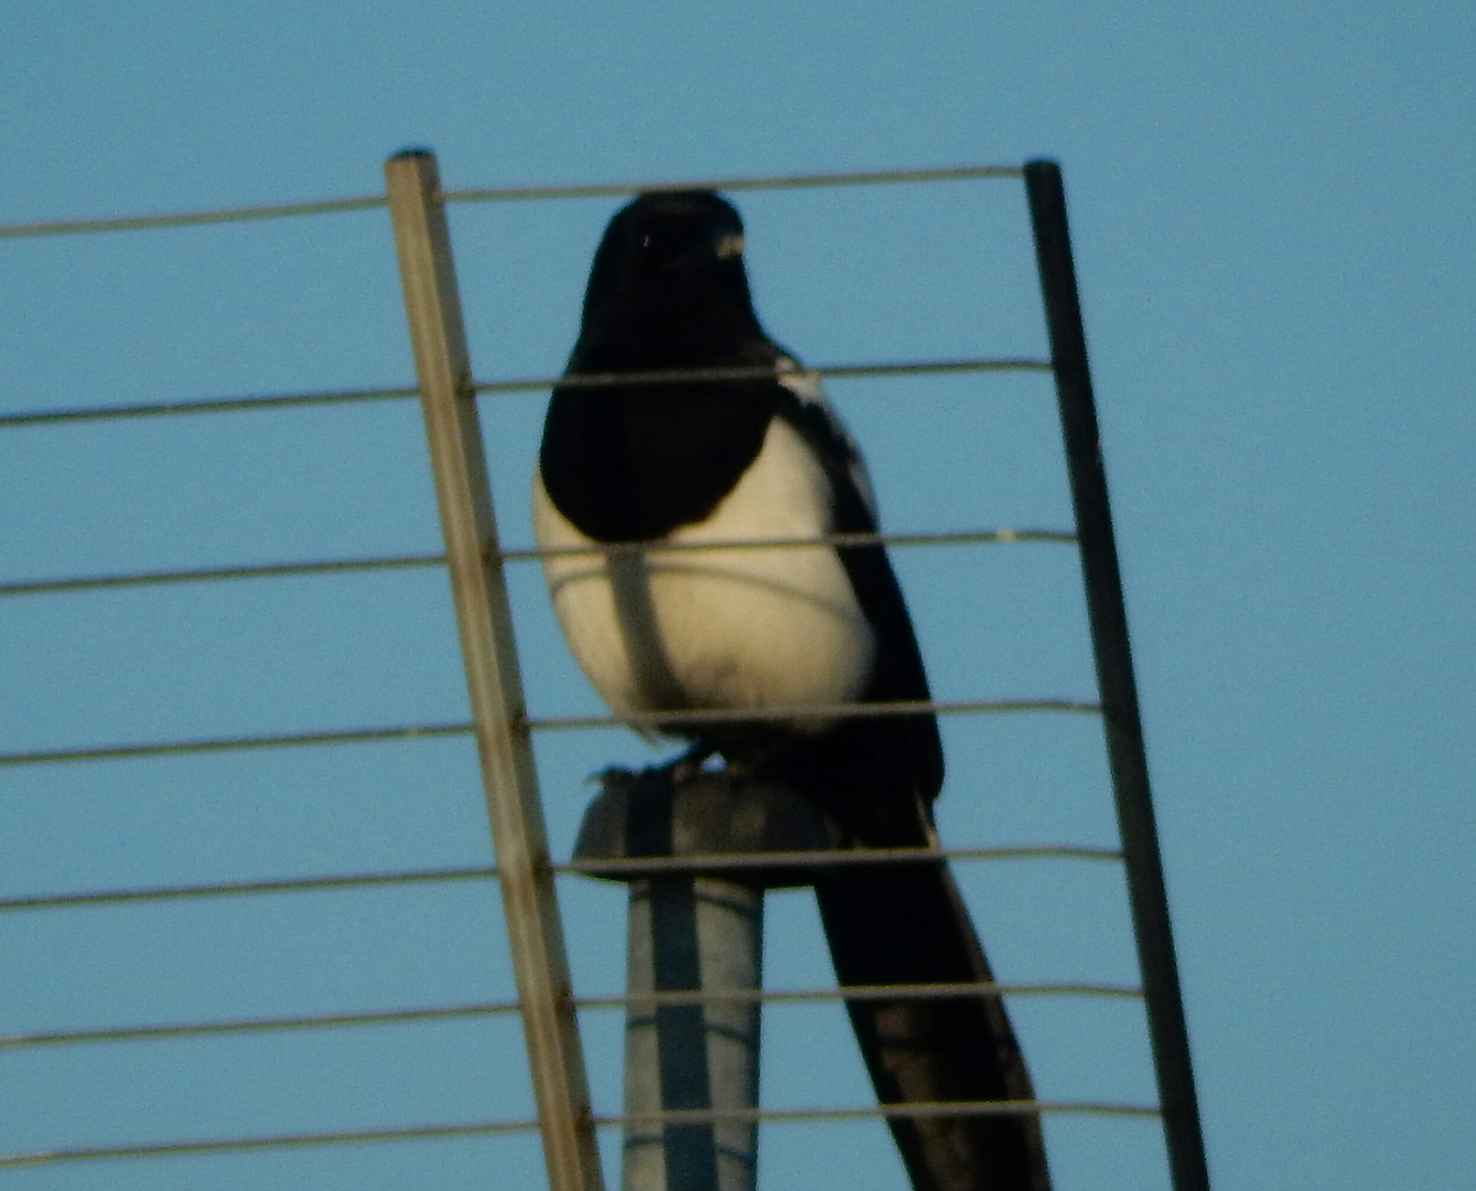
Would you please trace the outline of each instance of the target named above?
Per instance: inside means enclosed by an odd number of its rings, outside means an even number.
[[[570,373],[772,366],[753,313],[742,221],[707,192],[646,195],[610,223]],[[596,542],[660,539],[707,518],[763,447],[772,381],[554,390],[540,469],[555,508]]]

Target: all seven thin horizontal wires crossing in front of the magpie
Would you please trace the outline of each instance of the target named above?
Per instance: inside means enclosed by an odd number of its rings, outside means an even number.
[[[1018,167],[967,165],[940,170],[894,170],[868,173],[800,174],[772,177],[706,179],[697,182],[660,183],[598,183],[583,186],[525,186],[490,189],[447,189],[441,198],[446,202],[499,202],[534,201],[558,198],[623,196],[636,190],[711,187],[723,190],[794,189],[815,186],[856,186],[880,183],[940,183],[980,179],[1020,179]],[[248,220],[283,218],[298,215],[320,215],[347,211],[362,211],[382,207],[382,195],[326,199],[297,204],[269,204],[214,211],[186,211],[156,215],[108,217],[84,220],[55,220],[25,224],[0,226],[0,239],[35,236],[61,236],[94,232],[131,232],[164,227],[187,227],[199,224],[236,223]],[[973,357],[914,362],[838,363],[803,369],[803,376],[821,378],[924,378],[940,375],[971,373],[1049,373],[1049,360],[1027,357]],[[772,376],[769,367],[742,369],[686,369],[679,372],[652,372],[639,376],[586,375],[586,376],[533,376],[512,379],[478,381],[475,391],[483,396],[539,393],[559,385],[611,387],[620,384],[676,384],[691,381],[731,381],[754,376]],[[81,425],[120,419],[156,419],[167,416],[195,416],[210,413],[241,413],[269,409],[306,409],[320,406],[370,404],[399,401],[416,397],[416,387],[384,387],[320,393],[282,393],[266,396],[244,396],[232,398],[193,398],[177,401],[155,401],[118,406],[71,407],[61,410],[31,410],[0,415],[0,431],[22,431],[35,427]],[[889,546],[889,548],[942,548],[984,545],[1076,545],[1075,530],[1063,528],[967,528],[955,531],[925,533],[877,533],[877,534],[828,534],[806,539],[745,540],[731,543],[688,543],[673,546],[663,543],[661,552],[713,550],[713,549],[773,549],[803,548],[815,545],[832,546]],[[574,548],[567,550],[545,550],[515,548],[500,550],[508,562],[528,562],[562,553],[608,553],[648,552],[649,543],[626,543],[607,548]],[[446,564],[441,552],[401,553],[365,558],[323,558],[283,562],[254,562],[242,565],[133,571],[69,577],[18,579],[0,583],[0,598],[49,598],[63,593],[100,593],[133,587],[159,587],[168,584],[235,583],[241,580],[273,580],[288,577],[332,576],[369,571],[396,571],[434,568]],[[683,725],[729,723],[753,719],[779,719],[791,716],[906,716],[918,713],[934,714],[1017,714],[1017,713],[1064,713],[1100,714],[1101,702],[1092,698],[1064,697],[1020,697],[1011,700],[936,700],[927,702],[894,704],[846,704],[846,705],[796,705],[769,708],[763,716],[750,711],[688,711],[682,713]],[[540,732],[593,729],[611,726],[660,728],[672,720],[670,714],[590,714],[590,716],[533,716],[527,726]],[[87,762],[115,762],[124,759],[148,759],[182,754],[208,754],[244,750],[298,748],[310,745],[345,745],[382,741],[435,739],[465,736],[472,731],[469,722],[412,723],[373,726],[363,729],[300,731],[283,733],[257,733],[198,739],[176,739],[156,742],[103,742],[68,748],[35,748],[0,753],[0,769],[22,766],[56,766]],[[704,872],[763,868],[782,863],[785,868],[835,866],[889,863],[911,859],[948,859],[962,862],[993,862],[1021,859],[1086,860],[1120,863],[1123,853],[1114,847],[1077,846],[1063,843],[1032,844],[1018,847],[961,847],[961,849],[894,849],[868,853],[835,852],[788,852],[756,853],[751,856],[695,856],[679,859],[620,859],[558,863],[561,875],[618,875],[655,874],[664,871]],[[339,875],[307,875],[273,880],[217,881],[201,884],[174,884],[154,887],[97,888],[46,894],[13,896],[0,900],[0,915],[40,914],[47,911],[121,906],[140,903],[199,902],[210,899],[239,897],[252,894],[316,894],[332,890],[381,888],[394,886],[444,886],[466,881],[490,881],[497,877],[496,866],[449,866],[416,871],[369,871]],[[1141,999],[1142,989],[1135,984],[1104,981],[1058,981],[1058,983],[990,983],[970,986],[930,987],[816,987],[816,989],[759,989],[738,993],[639,993],[580,996],[574,999],[582,1011],[617,1009],[632,1004],[686,1005],[700,998],[720,999],[731,996],[762,1004],[797,1004],[819,1001],[859,1001],[866,998],[930,998],[961,995],[1004,996],[1089,996],[1108,999]],[[328,1012],[308,1015],[238,1017],[211,1021],[177,1021],[154,1024],[128,1024],[106,1027],[78,1027],[68,1030],[35,1030],[0,1036],[0,1051],[24,1048],[100,1045],[109,1042],[146,1042],[171,1038],[207,1038],[242,1033],[317,1030],[341,1027],[370,1027],[407,1024],[418,1021],[444,1021],[452,1018],[481,1018],[508,1015],[518,1011],[515,1001],[422,1005],[390,1009],[368,1009],[354,1012]],[[1106,1102],[1106,1101],[1030,1101],[987,1104],[912,1104],[912,1105],[858,1105],[858,1107],[763,1107],[757,1110],[672,1110],[658,1114],[666,1122],[719,1122],[762,1120],[813,1122],[846,1120],[856,1117],[889,1116],[949,1116],[949,1114],[1101,1114],[1101,1116],[1156,1116],[1157,1105]],[[596,1114],[601,1128],[630,1123],[633,1117],[623,1114]],[[648,1120],[648,1117],[641,1117]],[[263,1148],[295,1148],[311,1145],[335,1145],[365,1141],[407,1141],[446,1138],[462,1135],[492,1135],[525,1132],[537,1128],[536,1120],[496,1120],[447,1125],[416,1125],[385,1129],[350,1129],[316,1133],[277,1133],[270,1136],[207,1138],[173,1142],[151,1142],[131,1145],[99,1145],[50,1148],[24,1153],[0,1154],[0,1169],[66,1161],[96,1161],[103,1159],[161,1157],[168,1154],[207,1154],[224,1151],[246,1151]]]

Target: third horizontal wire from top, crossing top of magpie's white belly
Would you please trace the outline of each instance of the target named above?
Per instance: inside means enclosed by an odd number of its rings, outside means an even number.
[[[518,546],[497,550],[505,562],[579,555],[673,553],[691,550],[793,549],[799,546],[970,546],[1021,542],[1076,542],[1070,530],[936,530],[930,533],[831,533],[813,537],[747,537],[734,542],[614,542],[590,546]],[[108,587],[165,586],[171,583],[208,583],[233,579],[276,579],[282,576],[339,574],[353,571],[407,570],[437,567],[444,553],[388,555],[381,558],[329,558],[301,562],[257,562],[241,567],[201,567],[165,571],[125,571],[120,574],[75,576],[68,579],[31,579],[0,583],[0,598],[90,592]]]

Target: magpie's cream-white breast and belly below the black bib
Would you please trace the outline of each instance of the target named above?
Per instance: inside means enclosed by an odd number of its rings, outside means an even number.
[[[738,486],[673,542],[806,539],[831,530],[830,481],[779,418]],[[593,545],[533,483],[539,545]],[[828,546],[649,550],[546,558],[559,624],[615,711],[844,702],[871,672],[875,635]],[[818,729],[809,720],[797,728]]]

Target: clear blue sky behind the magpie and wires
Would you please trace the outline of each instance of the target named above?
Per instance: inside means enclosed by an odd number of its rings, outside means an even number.
[[[0,221],[447,186],[1061,159],[1212,1179],[1476,1179],[1476,16],[1458,4],[12,4]],[[556,372],[615,201],[463,205],[478,376]],[[1042,354],[1023,193],[739,196],[812,363]],[[0,242],[0,410],[412,381],[382,210]],[[1041,378],[834,382],[889,528],[1069,524]],[[508,545],[542,397],[483,398]],[[0,429],[0,581],[438,549],[412,401]],[[1091,697],[1069,548],[905,550],[942,698]],[[596,711],[536,570],[534,713]],[[437,570],[0,599],[0,748],[465,719]],[[949,844],[1113,843],[1095,720],[949,720]],[[539,741],[567,855],[584,776]],[[466,738],[0,769],[0,897],[490,860]],[[962,869],[999,974],[1135,978],[1110,865]],[[561,884],[579,990],[617,888]],[[770,986],[830,974],[770,899]],[[0,1033],[511,995],[486,881],[0,914]],[[1128,1004],[1013,1002],[1042,1097],[1153,1097]],[[869,1097],[773,1009],[766,1104]],[[618,1017],[584,1020],[601,1111]],[[528,1111],[512,1020],[0,1049],[0,1151]],[[1151,1122],[1052,1119],[1066,1188],[1165,1187]],[[607,1138],[607,1144],[614,1138]],[[613,1151],[608,1151],[611,1153]],[[769,1188],[900,1187],[875,1125]],[[6,1187],[525,1187],[528,1138],[4,1170]],[[614,1178],[611,1178],[614,1185]]]

